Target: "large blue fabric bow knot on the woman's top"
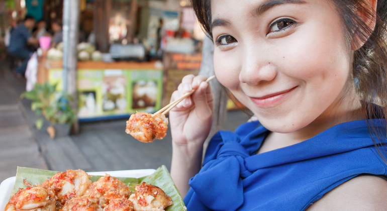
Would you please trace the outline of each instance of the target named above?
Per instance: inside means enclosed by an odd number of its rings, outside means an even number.
[[[235,133],[221,131],[217,135],[223,139],[217,158],[207,162],[190,179],[189,185],[206,207],[212,210],[236,210],[244,201],[242,178],[252,174],[246,169],[244,160],[249,153]],[[189,210],[189,206],[187,208]],[[191,210],[196,209],[192,207]]]

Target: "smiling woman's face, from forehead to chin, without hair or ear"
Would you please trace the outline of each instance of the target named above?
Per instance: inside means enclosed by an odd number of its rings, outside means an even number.
[[[332,115],[350,49],[332,1],[212,0],[218,80],[260,123],[289,133]]]

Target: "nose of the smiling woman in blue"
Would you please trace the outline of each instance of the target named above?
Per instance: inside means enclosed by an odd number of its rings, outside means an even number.
[[[239,80],[249,85],[257,85],[261,81],[271,81],[277,75],[275,64],[268,60],[267,54],[263,51],[245,51],[242,58],[242,68],[239,73]]]

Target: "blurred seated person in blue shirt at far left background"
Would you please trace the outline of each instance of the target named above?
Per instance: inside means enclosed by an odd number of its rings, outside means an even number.
[[[39,40],[31,37],[29,30],[35,26],[35,18],[27,15],[24,22],[19,24],[11,32],[10,43],[7,51],[14,57],[23,60],[23,63],[15,69],[18,78],[23,77],[26,72],[27,63],[33,52],[28,50],[27,44],[37,45]]]

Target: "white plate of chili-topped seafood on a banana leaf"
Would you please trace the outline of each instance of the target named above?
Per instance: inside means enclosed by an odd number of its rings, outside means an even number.
[[[165,166],[117,173],[18,167],[0,185],[0,211],[186,210]]]

